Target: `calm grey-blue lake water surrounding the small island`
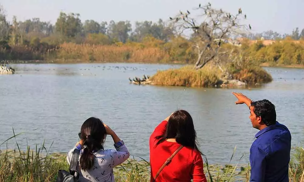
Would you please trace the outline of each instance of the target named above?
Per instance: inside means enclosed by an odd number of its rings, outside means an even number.
[[[0,75],[0,143],[12,134],[22,150],[45,139],[50,152],[67,152],[78,141],[81,124],[99,117],[124,140],[131,155],[149,159],[148,139],[155,126],[177,109],[193,117],[200,149],[210,163],[233,162],[249,148],[258,130],[252,128],[249,110],[235,105],[231,92],[251,99],[269,99],[277,120],[292,133],[292,145],[304,138],[304,69],[264,68],[273,82],[251,89],[187,88],[133,85],[128,78],[153,75],[178,65],[158,64],[16,64],[14,75]],[[14,140],[8,148],[14,148]],[[114,148],[107,137],[106,148]],[[5,149],[5,144],[0,149]]]

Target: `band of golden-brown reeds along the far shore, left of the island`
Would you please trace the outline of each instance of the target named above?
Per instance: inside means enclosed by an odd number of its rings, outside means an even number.
[[[57,59],[64,62],[161,62],[169,55],[159,47],[63,43]]]

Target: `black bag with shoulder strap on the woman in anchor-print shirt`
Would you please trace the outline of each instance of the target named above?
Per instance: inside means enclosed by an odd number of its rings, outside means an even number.
[[[79,153],[80,153],[79,149],[75,149],[73,151],[72,160],[71,160],[71,164],[70,164],[70,172],[67,172],[66,170],[59,170],[56,182],[77,182],[78,181],[79,173],[76,170],[76,166],[78,163]],[[75,173],[77,173],[76,177],[75,177]]]

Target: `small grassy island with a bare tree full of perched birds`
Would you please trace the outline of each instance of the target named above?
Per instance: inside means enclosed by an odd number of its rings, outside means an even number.
[[[189,10],[170,17],[180,35],[191,31],[188,49],[195,52],[196,62],[180,69],[158,71],[148,81],[133,81],[135,84],[153,84],[188,87],[244,86],[272,81],[272,77],[258,62],[246,54],[242,42],[231,37],[241,37],[252,27],[244,24],[247,15],[239,8],[233,15],[216,9],[210,3],[196,8],[201,16],[191,18]]]

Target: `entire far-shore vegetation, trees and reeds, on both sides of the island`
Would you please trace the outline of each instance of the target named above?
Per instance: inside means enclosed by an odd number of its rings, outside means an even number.
[[[269,30],[243,36],[249,40],[284,40],[268,46],[260,41],[244,42],[242,50],[251,60],[304,65],[304,43],[290,42],[304,39],[304,29],[300,32],[295,28],[283,35]],[[0,60],[194,63],[197,51],[191,41],[197,35],[189,37],[181,37],[172,22],[162,19],[136,22],[133,29],[130,21],[82,22],[79,14],[64,12],[54,25],[39,18],[22,22],[15,16],[9,22],[0,7]]]

